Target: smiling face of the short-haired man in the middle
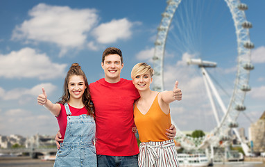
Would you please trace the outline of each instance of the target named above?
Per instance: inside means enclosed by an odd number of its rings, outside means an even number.
[[[101,63],[101,66],[105,72],[105,81],[109,83],[117,83],[120,81],[123,63],[121,63],[121,56],[119,54],[105,56],[104,63]]]

